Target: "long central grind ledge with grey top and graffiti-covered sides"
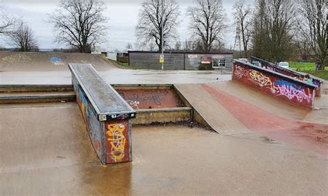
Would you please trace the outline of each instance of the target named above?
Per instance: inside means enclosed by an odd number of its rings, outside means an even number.
[[[90,64],[69,64],[73,89],[91,143],[103,164],[132,161],[136,113]]]

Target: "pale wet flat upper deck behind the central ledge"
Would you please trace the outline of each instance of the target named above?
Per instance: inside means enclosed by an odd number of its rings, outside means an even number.
[[[99,71],[109,84],[200,84],[231,80],[221,71],[156,71],[111,69]],[[0,84],[71,84],[69,71],[0,72]]]

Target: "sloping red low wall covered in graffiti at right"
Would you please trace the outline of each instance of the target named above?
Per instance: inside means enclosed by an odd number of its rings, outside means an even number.
[[[234,61],[233,80],[304,108],[314,107],[316,86],[253,64]]]

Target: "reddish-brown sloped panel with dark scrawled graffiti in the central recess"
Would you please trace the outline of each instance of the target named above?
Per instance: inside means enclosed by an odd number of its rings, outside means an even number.
[[[182,107],[173,89],[117,90],[133,109]]]

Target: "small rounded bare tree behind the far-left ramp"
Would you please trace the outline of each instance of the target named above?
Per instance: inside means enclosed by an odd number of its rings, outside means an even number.
[[[18,51],[28,52],[38,49],[33,30],[24,21],[19,21],[8,37],[10,44],[15,45]]]

